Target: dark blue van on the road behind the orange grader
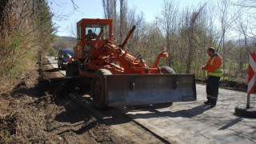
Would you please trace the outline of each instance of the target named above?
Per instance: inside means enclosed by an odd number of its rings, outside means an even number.
[[[74,50],[61,49],[58,50],[58,68],[65,70],[67,64],[67,55],[70,54],[74,58]]]

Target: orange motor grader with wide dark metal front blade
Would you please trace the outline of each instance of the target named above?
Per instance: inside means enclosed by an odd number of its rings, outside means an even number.
[[[165,47],[153,66],[147,66],[142,56],[129,54],[126,43],[134,30],[135,26],[115,46],[111,19],[79,21],[74,60],[67,64],[66,76],[91,78],[91,97],[100,109],[195,101],[194,74],[175,74],[168,66],[158,67],[160,58],[168,57]]]

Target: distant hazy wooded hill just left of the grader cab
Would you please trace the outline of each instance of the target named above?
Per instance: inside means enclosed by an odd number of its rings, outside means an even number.
[[[62,37],[62,36],[55,36],[54,39],[54,50],[60,49],[73,49],[73,47],[77,44],[77,38],[73,37]]]

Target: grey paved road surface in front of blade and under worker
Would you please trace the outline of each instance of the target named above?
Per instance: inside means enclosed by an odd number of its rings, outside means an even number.
[[[174,102],[173,106],[126,106],[114,110],[122,111],[165,142],[255,143],[256,120],[234,114],[236,106],[246,106],[246,93],[220,89],[218,106],[211,108],[202,104],[206,100],[205,89],[206,86],[197,85],[196,102]],[[254,95],[251,106],[256,106]]]

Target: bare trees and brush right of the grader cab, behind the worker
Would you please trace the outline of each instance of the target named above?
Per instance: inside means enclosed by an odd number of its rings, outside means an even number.
[[[178,1],[163,0],[154,23],[145,22],[143,13],[130,9],[126,0],[102,0],[102,6],[105,18],[114,20],[118,43],[133,25],[137,26],[127,47],[134,56],[142,54],[148,65],[166,46],[170,57],[160,66],[204,80],[206,74],[199,67],[209,59],[207,48],[214,47],[222,57],[222,79],[246,82],[249,54],[255,53],[256,44],[254,0],[207,1],[184,9],[179,8]]]

